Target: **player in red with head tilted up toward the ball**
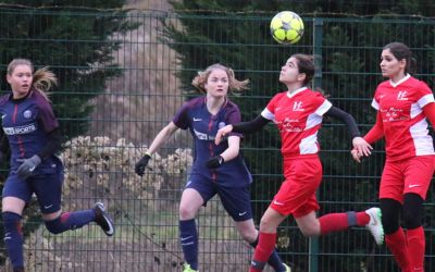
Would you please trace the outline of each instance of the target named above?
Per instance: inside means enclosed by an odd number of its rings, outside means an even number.
[[[360,137],[353,118],[332,106],[320,92],[306,87],[314,75],[313,58],[291,55],[279,74],[286,91],[275,95],[262,113],[250,122],[229,124],[219,129],[215,143],[229,133],[251,133],[274,121],[282,138],[284,176],[278,193],[260,222],[259,245],[251,262],[251,272],[262,271],[265,260],[276,243],[276,230],[286,217],[293,214],[306,236],[325,235],[349,226],[366,226],[377,244],[383,243],[381,211],[371,208],[362,212],[331,213],[316,218],[319,205],[315,190],[322,180],[322,164],[318,152],[318,131],[323,115],[346,123],[352,136],[353,147],[362,154],[370,153],[371,146]]]

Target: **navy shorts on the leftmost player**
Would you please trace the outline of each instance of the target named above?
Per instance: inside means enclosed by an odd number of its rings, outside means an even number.
[[[11,171],[4,183],[2,197],[16,197],[27,203],[35,194],[42,213],[57,212],[61,209],[62,162],[54,162],[46,169],[38,168],[37,173],[27,180],[20,178],[15,171]]]

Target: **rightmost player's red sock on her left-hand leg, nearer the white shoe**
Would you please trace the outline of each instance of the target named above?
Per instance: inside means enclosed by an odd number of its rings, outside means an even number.
[[[401,271],[411,271],[411,263],[408,258],[407,238],[405,237],[403,230],[399,227],[397,232],[385,235],[385,243],[395,257]]]

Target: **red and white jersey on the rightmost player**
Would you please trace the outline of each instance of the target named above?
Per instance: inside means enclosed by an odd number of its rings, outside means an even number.
[[[434,154],[423,112],[423,107],[432,102],[432,90],[410,75],[396,84],[386,81],[377,86],[372,107],[382,114],[388,159]]]

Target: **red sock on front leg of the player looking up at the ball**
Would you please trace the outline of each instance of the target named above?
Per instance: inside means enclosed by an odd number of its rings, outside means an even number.
[[[259,244],[253,252],[252,263],[258,263],[259,267],[250,267],[249,272],[263,271],[263,263],[265,264],[271,257],[276,244],[276,233],[262,233],[259,235]]]

